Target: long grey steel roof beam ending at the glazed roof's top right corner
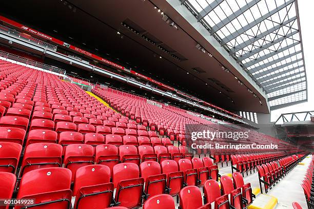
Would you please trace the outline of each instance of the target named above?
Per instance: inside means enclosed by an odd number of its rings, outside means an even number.
[[[237,31],[231,33],[230,35],[226,36],[225,38],[222,39],[221,46],[227,44],[230,40],[238,37],[239,35],[241,35],[245,31],[249,30],[250,28],[258,25],[261,22],[263,22],[265,19],[267,19],[268,17],[270,17],[273,14],[276,14],[277,12],[279,12],[280,10],[285,8],[286,6],[292,4],[293,2],[295,2],[295,0],[289,0],[289,1],[285,2],[284,4],[280,5],[276,9],[271,10],[270,12],[268,12],[268,13],[264,14],[263,16],[257,18],[256,20],[254,20],[253,22],[251,22],[248,25],[244,26],[243,28],[240,28],[239,30],[237,30]]]

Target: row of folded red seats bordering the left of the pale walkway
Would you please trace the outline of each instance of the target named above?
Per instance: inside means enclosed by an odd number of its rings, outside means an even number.
[[[258,165],[259,183],[261,193],[263,193],[262,183],[264,184],[265,193],[272,186],[276,185],[278,181],[290,172],[301,159],[300,156],[292,155],[287,156],[277,161],[270,161],[262,165]]]

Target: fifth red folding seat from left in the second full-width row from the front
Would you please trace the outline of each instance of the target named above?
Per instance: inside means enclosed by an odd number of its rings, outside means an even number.
[[[140,155],[134,145],[121,145],[119,147],[119,155],[121,162],[132,162],[138,166],[140,165]]]

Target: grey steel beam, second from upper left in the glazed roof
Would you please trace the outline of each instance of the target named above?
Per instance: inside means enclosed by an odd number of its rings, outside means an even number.
[[[230,23],[233,19],[239,17],[241,14],[243,14],[245,11],[247,11],[248,9],[250,9],[251,7],[256,5],[257,3],[259,3],[260,1],[261,0],[252,0],[248,4],[244,5],[242,8],[240,8],[239,10],[237,10],[234,13],[230,14],[230,16],[224,18],[223,20],[221,20],[220,23],[218,23],[217,25],[213,26],[211,28],[211,30],[210,30],[210,34],[212,35],[215,32],[219,31],[220,29],[225,27],[228,23]]]

